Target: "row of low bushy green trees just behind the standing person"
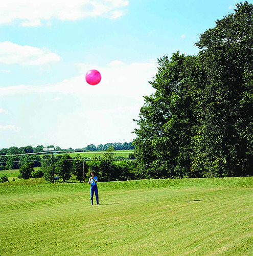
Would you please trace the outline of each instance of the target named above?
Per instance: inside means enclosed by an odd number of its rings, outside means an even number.
[[[43,166],[37,173],[42,172],[48,182],[53,182],[53,176],[57,176],[60,181],[66,182],[72,175],[80,182],[83,182],[84,179],[87,181],[91,170],[95,170],[100,181],[135,179],[135,161],[129,159],[116,164],[113,155],[113,148],[111,147],[101,158],[83,159],[80,154],[73,158],[68,154],[58,158],[53,157],[53,162],[50,158],[44,158]],[[32,173],[32,177],[36,177],[35,175],[36,171]]]

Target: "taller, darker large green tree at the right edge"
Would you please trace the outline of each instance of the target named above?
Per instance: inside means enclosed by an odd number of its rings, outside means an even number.
[[[196,44],[199,73],[193,172],[204,177],[252,175],[253,6],[217,20]]]

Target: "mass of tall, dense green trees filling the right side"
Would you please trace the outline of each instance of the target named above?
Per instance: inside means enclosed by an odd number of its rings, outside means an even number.
[[[142,178],[253,172],[253,5],[200,35],[197,56],[158,59],[133,141]]]

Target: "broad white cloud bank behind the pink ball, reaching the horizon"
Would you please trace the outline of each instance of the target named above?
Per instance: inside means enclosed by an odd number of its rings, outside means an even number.
[[[143,96],[154,92],[148,81],[157,72],[157,62],[114,60],[104,67],[79,63],[78,68],[81,75],[58,83],[0,88],[0,101],[15,99],[15,104],[9,103],[16,117],[12,121],[22,127],[7,145],[15,141],[17,145],[50,143],[77,148],[132,141],[135,135],[131,132],[137,126],[133,119],[138,119]],[[90,69],[102,75],[96,86],[85,81]],[[25,139],[31,134],[32,138]]]

